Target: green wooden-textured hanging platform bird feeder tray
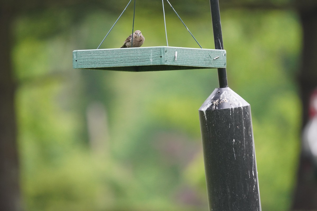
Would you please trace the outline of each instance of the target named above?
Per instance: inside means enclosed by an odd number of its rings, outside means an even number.
[[[73,67],[132,72],[225,68],[226,51],[167,46],[75,50]]]

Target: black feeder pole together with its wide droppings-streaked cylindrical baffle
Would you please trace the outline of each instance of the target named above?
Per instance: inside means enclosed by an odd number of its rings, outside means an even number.
[[[210,0],[216,49],[223,49],[218,0]],[[228,87],[225,68],[220,88],[199,108],[210,211],[261,211],[250,104]]]

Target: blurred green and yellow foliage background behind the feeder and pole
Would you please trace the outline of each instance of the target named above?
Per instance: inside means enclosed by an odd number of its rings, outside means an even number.
[[[214,48],[209,1],[170,2]],[[98,47],[127,3],[0,3],[1,210],[208,209],[198,108],[217,71],[72,68],[72,51]],[[220,1],[229,86],[252,108],[263,210],[305,209],[294,196],[303,193],[300,134],[317,85],[316,8]],[[165,13],[169,45],[198,47],[166,3]],[[132,19],[131,4],[101,48],[120,47]],[[136,1],[134,28],[143,47],[166,45],[161,1]]]

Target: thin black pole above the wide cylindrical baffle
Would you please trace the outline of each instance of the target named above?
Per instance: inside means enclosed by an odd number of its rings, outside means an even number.
[[[212,28],[214,32],[215,49],[223,50],[220,11],[218,0],[210,0]],[[228,87],[226,68],[218,68],[219,87]]]

